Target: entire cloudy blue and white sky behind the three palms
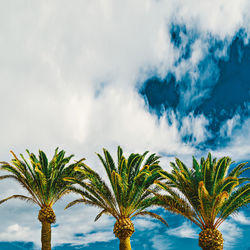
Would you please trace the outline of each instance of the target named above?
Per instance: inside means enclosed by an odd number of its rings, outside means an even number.
[[[0,159],[60,147],[104,174],[95,152],[120,145],[161,155],[164,169],[208,152],[250,161],[249,38],[249,0],[0,1]],[[114,219],[64,211],[74,198],[55,205],[53,249],[118,249]],[[38,211],[1,205],[0,249],[39,249]],[[135,219],[133,249],[199,249],[199,228],[157,212],[169,227]],[[220,230],[226,250],[249,250],[249,208]]]

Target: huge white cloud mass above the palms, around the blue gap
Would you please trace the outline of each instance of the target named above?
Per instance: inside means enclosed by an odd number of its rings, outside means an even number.
[[[117,143],[134,144],[130,150],[149,145],[170,154],[192,152],[181,142],[175,121],[170,126],[163,117],[158,123],[148,114],[134,86],[152,69],[163,77],[169,71],[179,79],[186,72],[195,77],[208,51],[208,34],[225,40],[246,27],[248,2],[139,1],[132,6],[111,0],[2,6],[1,138],[8,143],[1,155],[10,147],[62,145],[92,152],[97,145]],[[200,34],[190,59],[177,66],[182,52],[171,43],[173,22]],[[190,84],[183,100],[200,98]],[[193,123],[199,128],[190,131]],[[184,128],[201,131],[202,141],[205,126],[195,117]]]

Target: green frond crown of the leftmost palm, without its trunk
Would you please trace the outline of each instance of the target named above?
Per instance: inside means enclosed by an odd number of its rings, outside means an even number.
[[[39,205],[52,206],[63,195],[68,193],[67,189],[71,183],[65,181],[65,178],[83,179],[84,175],[74,169],[82,164],[78,161],[74,164],[67,165],[73,155],[65,157],[65,151],[55,150],[55,154],[51,161],[48,161],[46,154],[39,150],[38,156],[26,150],[29,160],[21,154],[19,159],[14,152],[11,151],[13,159],[10,163],[0,162],[1,170],[10,174],[0,176],[0,180],[13,179],[19,183],[30,197],[13,195],[12,198],[26,199]],[[26,198],[25,198],[26,197]],[[9,197],[10,198],[10,197]],[[5,199],[7,201],[9,198]]]

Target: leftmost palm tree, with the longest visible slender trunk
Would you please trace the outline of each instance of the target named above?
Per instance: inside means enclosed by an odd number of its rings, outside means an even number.
[[[82,179],[82,173],[76,172],[74,169],[82,160],[66,166],[73,155],[65,157],[65,151],[55,154],[50,162],[43,151],[39,151],[38,158],[26,150],[29,155],[29,160],[26,161],[24,156],[20,154],[22,160],[11,151],[14,159],[11,163],[1,162],[1,170],[10,172],[8,175],[0,176],[0,180],[13,179],[17,181],[26,191],[26,195],[12,195],[0,201],[0,204],[10,199],[21,199],[27,202],[35,203],[40,206],[38,219],[42,223],[41,242],[42,250],[51,249],[51,224],[55,223],[56,215],[52,206],[65,194],[67,194],[69,182],[65,182],[65,177],[74,177]]]

